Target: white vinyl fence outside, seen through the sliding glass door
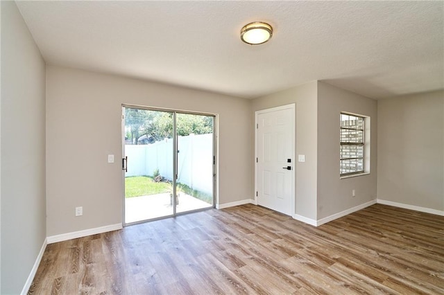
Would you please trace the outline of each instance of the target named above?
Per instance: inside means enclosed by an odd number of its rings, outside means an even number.
[[[178,182],[194,190],[213,192],[213,134],[179,136]],[[125,145],[128,172],[125,176],[152,176],[156,169],[173,179],[173,139],[148,145]]]

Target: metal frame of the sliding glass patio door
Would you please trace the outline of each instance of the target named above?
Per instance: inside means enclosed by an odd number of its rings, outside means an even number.
[[[173,113],[173,171],[177,171],[177,136],[176,135],[176,114],[191,114],[191,115],[200,115],[200,116],[212,116],[213,117],[213,204],[210,207],[202,208],[202,209],[196,209],[186,212],[176,212],[176,198],[173,198],[173,215],[167,215],[163,217],[156,217],[150,220],[142,220],[139,222],[125,222],[125,170],[123,169],[123,160],[125,159],[125,108],[133,108],[133,109],[146,109],[148,111],[167,111]],[[168,109],[168,108],[162,108],[162,107],[149,107],[144,105],[130,105],[130,104],[121,104],[121,159],[122,159],[122,166],[121,166],[121,172],[122,172],[122,226],[131,226],[135,224],[142,224],[144,222],[151,222],[154,220],[162,220],[164,218],[179,216],[179,215],[185,215],[193,212],[199,212],[199,211],[205,211],[209,208],[216,208],[216,200],[219,199],[219,157],[218,157],[218,151],[219,151],[219,114],[213,114],[213,113],[204,113],[199,111],[185,111],[181,109]],[[125,163],[127,165],[128,163]],[[173,186],[173,195],[176,195],[176,186]]]

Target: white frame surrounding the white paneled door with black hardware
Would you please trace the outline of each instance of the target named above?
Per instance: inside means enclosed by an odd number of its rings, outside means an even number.
[[[255,111],[255,197],[254,204],[257,205],[258,198],[258,188],[259,184],[257,183],[257,129],[259,127],[259,122],[257,121],[257,117],[259,114],[266,114],[273,111],[281,111],[282,109],[291,109],[293,116],[291,116],[291,159],[293,159],[293,169],[291,170],[291,217],[294,217],[296,214],[296,103],[291,103],[289,105],[281,105],[279,107],[271,107],[269,109],[261,109],[259,111]]]

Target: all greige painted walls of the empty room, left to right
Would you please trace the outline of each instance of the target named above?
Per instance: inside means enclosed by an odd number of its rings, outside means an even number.
[[[219,204],[254,197],[254,111],[295,102],[296,155],[306,156],[296,162],[297,215],[319,220],[376,193],[444,211],[444,91],[376,102],[313,81],[249,101],[58,66],[45,73],[15,3],[0,7],[2,294],[22,290],[46,235],[121,223],[121,103],[219,114]],[[339,179],[340,111],[372,118],[370,175]]]

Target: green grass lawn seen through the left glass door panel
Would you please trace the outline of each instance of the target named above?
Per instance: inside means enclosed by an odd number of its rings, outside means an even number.
[[[155,182],[148,176],[125,177],[125,197],[139,197],[169,193],[171,185],[167,182]]]

